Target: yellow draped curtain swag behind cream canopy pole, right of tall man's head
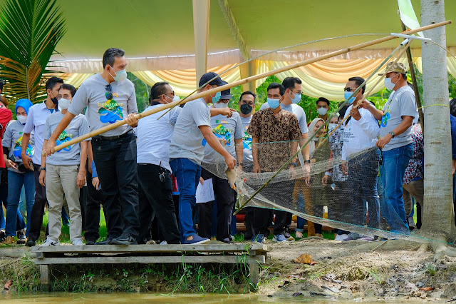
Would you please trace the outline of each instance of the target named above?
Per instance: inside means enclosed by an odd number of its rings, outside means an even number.
[[[224,81],[232,83],[241,79],[239,67],[228,71],[235,64],[229,64],[227,66],[217,66],[215,68],[208,69],[208,71],[215,72],[221,75]],[[226,73],[225,73],[226,72]],[[132,72],[136,77],[147,83],[149,86],[153,86],[154,83],[159,81],[166,81],[170,83],[170,86],[174,89],[178,96],[187,96],[188,94],[195,91],[197,79],[195,69],[187,70],[162,70],[162,71],[136,71]]]

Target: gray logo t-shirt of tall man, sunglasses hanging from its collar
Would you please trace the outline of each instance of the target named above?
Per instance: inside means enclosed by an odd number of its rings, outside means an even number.
[[[113,99],[108,100],[106,86],[108,82],[95,74],[81,84],[71,101],[68,112],[78,115],[87,106],[86,116],[90,131],[122,121],[130,113],[138,113],[135,86],[128,79],[110,83]],[[131,130],[128,124],[119,126],[101,134],[101,136],[119,136]]]

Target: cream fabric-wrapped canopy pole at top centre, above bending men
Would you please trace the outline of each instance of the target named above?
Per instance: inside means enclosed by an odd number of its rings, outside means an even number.
[[[193,0],[193,35],[195,37],[195,67],[198,80],[207,71],[207,41],[209,39],[209,0]]]

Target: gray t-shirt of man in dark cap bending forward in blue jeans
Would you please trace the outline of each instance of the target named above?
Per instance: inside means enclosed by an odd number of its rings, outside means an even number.
[[[204,158],[199,126],[211,126],[211,113],[203,98],[189,101],[177,118],[170,145],[170,159],[188,158],[200,165]]]

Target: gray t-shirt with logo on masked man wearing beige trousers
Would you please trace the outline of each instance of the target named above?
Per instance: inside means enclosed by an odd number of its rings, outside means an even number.
[[[54,112],[46,118],[46,124],[43,131],[43,139],[48,140],[51,137],[51,134],[56,130],[58,123],[61,122],[63,114],[61,112]],[[63,130],[60,136],[56,140],[57,146],[61,143],[66,143],[71,141],[71,139],[79,137],[83,134],[88,133],[88,122],[86,116],[79,114],[68,125],[68,127]],[[86,139],[90,141],[90,138]],[[46,163],[55,166],[73,166],[79,165],[81,161],[81,145],[76,143],[74,145],[63,148],[56,153],[53,153],[50,156],[46,157]]]

